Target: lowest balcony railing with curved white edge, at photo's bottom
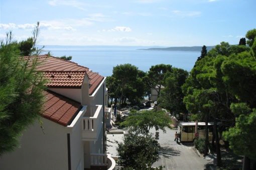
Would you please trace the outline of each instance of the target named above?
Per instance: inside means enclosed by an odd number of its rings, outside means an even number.
[[[106,166],[108,170],[115,169],[115,160],[110,154],[91,153],[91,166]]]

